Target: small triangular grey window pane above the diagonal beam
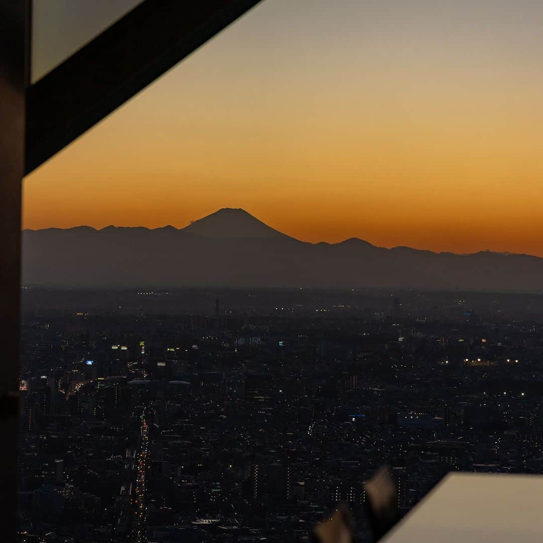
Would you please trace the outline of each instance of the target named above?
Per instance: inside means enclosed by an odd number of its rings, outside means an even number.
[[[34,0],[31,81],[37,81],[142,0]]]

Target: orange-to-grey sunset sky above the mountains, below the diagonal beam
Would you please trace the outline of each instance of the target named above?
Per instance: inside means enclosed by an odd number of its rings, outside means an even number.
[[[305,241],[543,256],[541,28],[539,0],[265,0],[29,175],[24,228],[243,207]]]

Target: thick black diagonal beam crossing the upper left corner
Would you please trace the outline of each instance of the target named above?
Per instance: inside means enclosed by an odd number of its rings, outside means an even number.
[[[26,172],[48,160],[260,0],[145,0],[32,85]]]

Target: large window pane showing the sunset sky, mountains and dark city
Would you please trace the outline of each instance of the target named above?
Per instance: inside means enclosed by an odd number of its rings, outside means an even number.
[[[367,542],[383,463],[402,513],[543,471],[520,3],[268,0],[28,176],[24,529],[304,541],[349,502]]]

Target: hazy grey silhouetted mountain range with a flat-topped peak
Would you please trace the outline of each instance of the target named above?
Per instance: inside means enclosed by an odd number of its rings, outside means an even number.
[[[23,284],[61,288],[323,287],[541,292],[543,258],[306,243],[242,209],[186,228],[23,231]]]

